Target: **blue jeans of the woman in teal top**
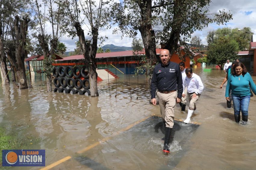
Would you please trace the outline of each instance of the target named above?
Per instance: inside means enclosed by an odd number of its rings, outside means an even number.
[[[250,103],[251,96],[233,96],[233,105],[234,105],[234,114],[240,114],[247,116],[248,115],[248,107]]]

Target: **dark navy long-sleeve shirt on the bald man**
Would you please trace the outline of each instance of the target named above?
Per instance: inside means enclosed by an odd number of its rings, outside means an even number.
[[[159,91],[178,90],[177,97],[182,97],[182,75],[177,63],[169,62],[166,66],[159,63],[155,66],[150,86],[151,99],[155,98],[156,89]]]

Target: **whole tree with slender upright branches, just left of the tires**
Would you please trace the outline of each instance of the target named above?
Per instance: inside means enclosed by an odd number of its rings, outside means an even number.
[[[33,9],[35,26],[33,27],[34,37],[38,40],[44,55],[44,71],[46,73],[47,91],[52,91],[52,63],[54,62],[54,52],[57,50],[60,25],[60,8],[54,0],[33,0],[30,4]],[[48,9],[46,11],[46,9]],[[51,31],[47,32],[45,24],[51,24]],[[50,49],[48,44],[50,44]]]

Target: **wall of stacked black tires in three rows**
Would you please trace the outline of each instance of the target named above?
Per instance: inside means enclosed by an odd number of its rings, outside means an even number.
[[[53,76],[55,77],[53,80],[55,86],[53,92],[58,91],[59,93],[65,92],[79,95],[87,93],[88,96],[91,95],[89,91],[89,75],[85,66],[82,68],[79,66],[54,67]]]

